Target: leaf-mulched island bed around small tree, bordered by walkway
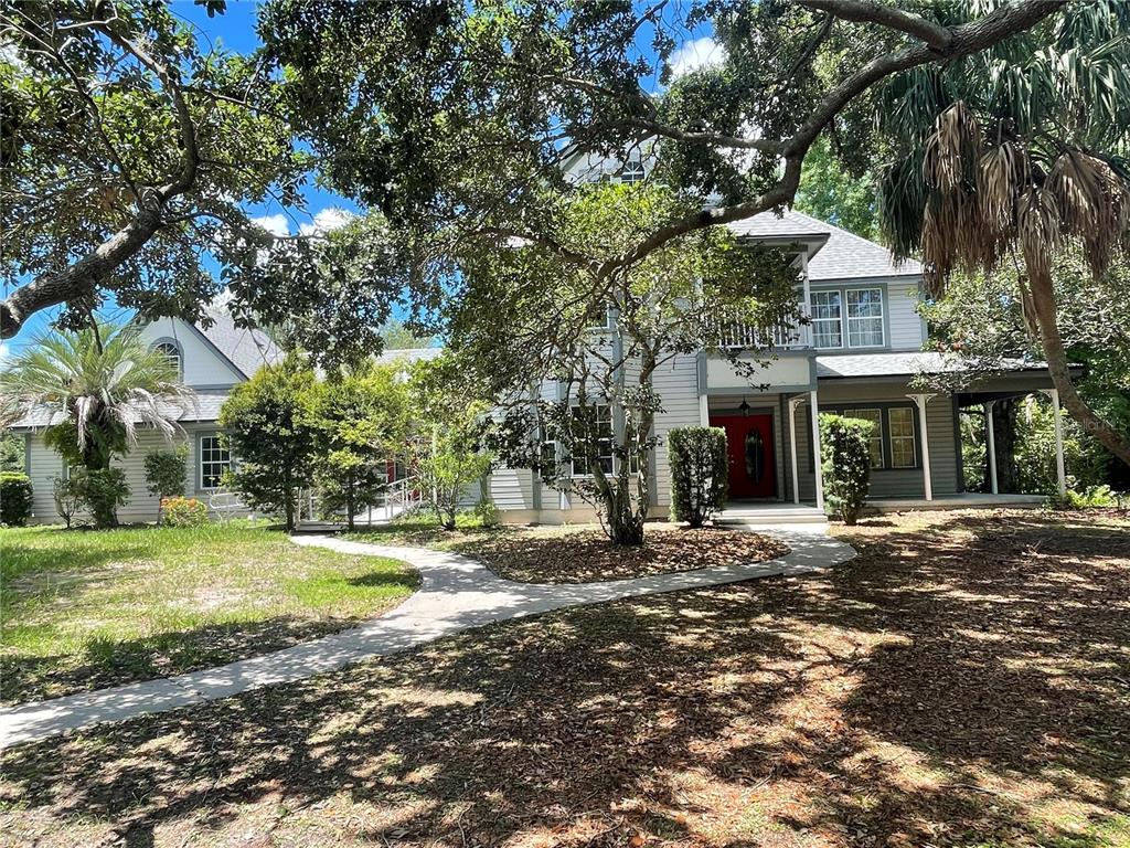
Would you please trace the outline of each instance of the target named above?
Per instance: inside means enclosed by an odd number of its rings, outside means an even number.
[[[773,560],[789,552],[767,536],[716,527],[649,525],[641,547],[612,545],[591,527],[529,528],[454,546],[499,577],[523,583],[592,583]]]

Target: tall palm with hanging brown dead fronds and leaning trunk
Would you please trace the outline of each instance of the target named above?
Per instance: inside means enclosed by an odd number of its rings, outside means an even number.
[[[892,139],[879,226],[920,253],[930,294],[957,269],[1015,263],[1016,295],[1068,413],[1130,465],[1130,440],[1079,396],[1057,323],[1057,251],[1096,278],[1130,222],[1130,5],[1072,3],[1053,23],[896,80],[878,110]]]

